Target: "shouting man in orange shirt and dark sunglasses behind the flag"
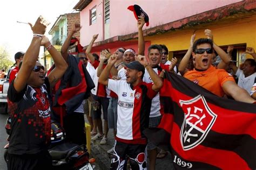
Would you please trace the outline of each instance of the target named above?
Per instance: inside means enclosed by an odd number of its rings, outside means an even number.
[[[192,52],[195,68],[186,72],[184,77],[220,97],[227,94],[236,101],[254,103],[253,98],[247,91],[237,86],[230,74],[211,65],[212,50],[213,42],[211,39],[200,38],[196,40]]]

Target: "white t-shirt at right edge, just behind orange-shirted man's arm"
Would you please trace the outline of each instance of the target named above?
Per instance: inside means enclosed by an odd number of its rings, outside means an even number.
[[[245,77],[244,72],[242,72],[241,69],[238,68],[237,73],[235,73],[238,77],[238,86],[245,89],[248,94],[251,92],[251,87],[254,84],[254,79],[256,76],[256,73],[253,73],[250,76]]]

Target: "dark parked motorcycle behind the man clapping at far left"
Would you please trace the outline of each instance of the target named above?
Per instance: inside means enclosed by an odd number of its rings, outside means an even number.
[[[10,135],[11,118],[8,117],[5,123],[6,133]],[[8,136],[8,141],[10,140]],[[4,146],[4,160],[7,162],[7,153],[9,143]],[[65,131],[59,123],[51,121],[51,146],[49,153],[52,157],[53,169],[79,169],[92,170],[95,159],[89,159],[90,154],[87,152],[85,145],[78,145],[65,141]]]

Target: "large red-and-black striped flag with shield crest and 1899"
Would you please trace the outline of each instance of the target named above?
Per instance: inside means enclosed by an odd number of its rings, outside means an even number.
[[[158,128],[145,130],[169,150],[176,169],[256,169],[256,105],[218,97],[165,73]]]

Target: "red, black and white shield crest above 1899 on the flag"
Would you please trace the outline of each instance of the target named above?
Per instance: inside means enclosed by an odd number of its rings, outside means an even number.
[[[184,121],[180,130],[183,150],[191,150],[204,141],[217,115],[208,107],[204,96],[198,95],[188,101],[179,101],[184,111]]]

